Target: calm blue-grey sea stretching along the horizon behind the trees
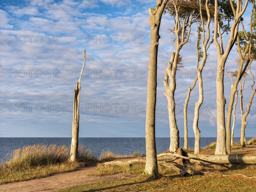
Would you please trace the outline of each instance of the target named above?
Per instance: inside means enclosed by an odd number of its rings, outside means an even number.
[[[250,139],[250,138],[247,138]],[[194,148],[194,138],[188,140],[189,148]],[[240,140],[240,137],[235,137],[234,140]],[[202,137],[201,148],[216,141],[216,137]],[[70,137],[1,137],[0,138],[0,162],[6,160],[6,154],[14,149],[22,148],[24,145],[34,144],[57,144],[70,146]],[[184,138],[180,137],[180,148],[183,148]],[[140,154],[145,154],[145,138],[143,137],[86,137],[79,138],[79,145],[84,145],[95,151],[99,155],[102,149],[110,150],[115,154],[133,154],[134,151],[140,151]],[[157,153],[167,151],[170,145],[170,139],[167,137],[156,138]]]

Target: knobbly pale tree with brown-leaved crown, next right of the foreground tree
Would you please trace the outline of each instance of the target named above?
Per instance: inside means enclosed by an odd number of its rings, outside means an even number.
[[[168,67],[165,72],[165,79],[163,84],[166,92],[164,95],[168,101],[168,113],[169,113],[169,126],[170,126],[170,146],[169,151],[175,153],[179,148],[179,130],[177,128],[175,117],[175,89],[176,78],[175,74],[178,67],[178,61],[180,56],[180,49],[189,40],[191,31],[191,25],[198,18],[198,14],[195,14],[197,1],[178,1],[170,0],[166,11],[173,17],[175,21],[175,28],[170,29],[176,36],[175,39],[175,52],[172,53]]]

